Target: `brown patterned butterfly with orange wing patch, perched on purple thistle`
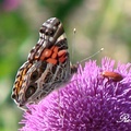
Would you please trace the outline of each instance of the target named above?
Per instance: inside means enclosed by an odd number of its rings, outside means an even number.
[[[70,62],[62,23],[51,17],[40,27],[37,44],[17,71],[12,98],[21,108],[26,104],[37,104],[68,82],[76,71],[78,67]]]

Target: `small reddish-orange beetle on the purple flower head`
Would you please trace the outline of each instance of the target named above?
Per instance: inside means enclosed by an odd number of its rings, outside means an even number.
[[[123,76],[117,72],[112,71],[103,71],[102,75],[107,79],[111,79],[114,82],[119,82],[123,79]]]

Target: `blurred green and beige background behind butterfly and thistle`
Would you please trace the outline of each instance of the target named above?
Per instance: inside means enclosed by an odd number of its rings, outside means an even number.
[[[105,50],[92,59],[108,56],[130,62],[131,0],[0,0],[0,131],[16,131],[22,110],[11,99],[17,69],[38,40],[38,31],[49,17],[64,26],[73,63]],[[73,34],[76,28],[76,34]]]

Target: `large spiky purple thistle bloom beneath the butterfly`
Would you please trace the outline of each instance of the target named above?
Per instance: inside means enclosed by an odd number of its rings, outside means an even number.
[[[131,131],[131,63],[104,58],[102,66],[88,61],[59,91],[38,105],[28,105],[21,131]],[[119,82],[103,71],[118,72]]]

